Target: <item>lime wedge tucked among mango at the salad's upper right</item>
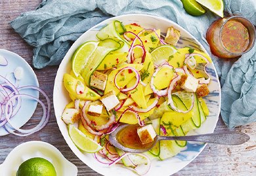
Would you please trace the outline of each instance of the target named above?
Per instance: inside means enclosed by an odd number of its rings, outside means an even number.
[[[157,60],[169,60],[169,57],[177,52],[176,48],[171,45],[161,45],[155,48],[150,54],[152,56],[152,61]]]

